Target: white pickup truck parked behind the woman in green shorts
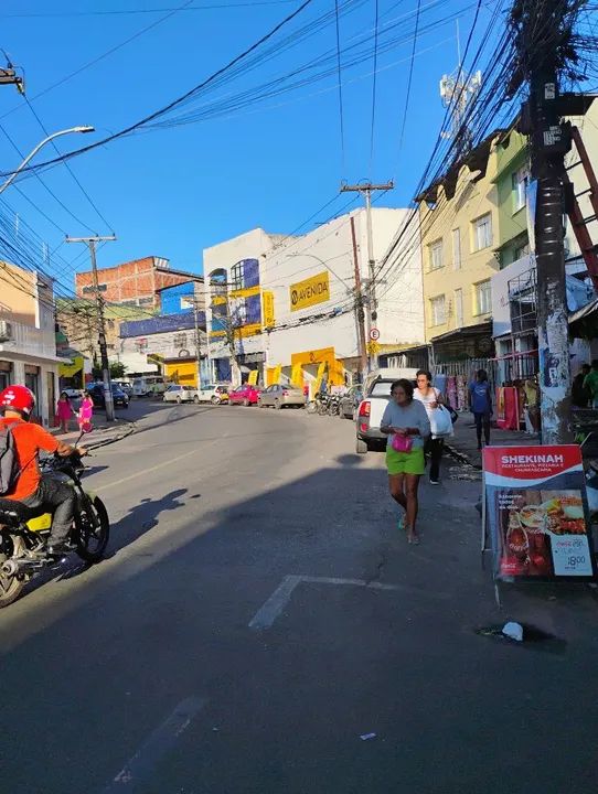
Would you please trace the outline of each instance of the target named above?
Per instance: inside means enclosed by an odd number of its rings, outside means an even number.
[[[406,378],[415,385],[417,369],[403,367],[401,369],[376,369],[365,380],[365,397],[359,405],[355,421],[356,451],[364,454],[371,449],[383,449],[386,446],[385,436],[380,425],[384,409],[391,399],[391,386],[395,380]]]

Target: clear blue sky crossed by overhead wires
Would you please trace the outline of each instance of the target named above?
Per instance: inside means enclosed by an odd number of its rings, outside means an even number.
[[[15,65],[24,68],[28,96],[49,131],[74,125],[96,127],[93,136],[60,140],[61,151],[67,151],[117,131],[189,90],[300,4],[296,0],[233,7],[234,2],[241,0],[195,0],[196,6],[231,6],[179,11],[39,98],[35,98],[39,93],[164,17],[167,11],[71,13],[174,9],[182,0],[56,0],[51,7],[44,0],[24,0],[10,7],[4,3],[0,11],[0,46]],[[436,3],[423,0],[420,25],[462,10],[460,30],[464,41],[473,19],[472,4],[471,0]],[[98,217],[64,167],[47,170],[43,179],[88,227],[99,234],[113,228],[116,232],[118,240],[106,245],[99,254],[100,266],[158,255],[169,258],[172,267],[201,271],[204,247],[255,226],[288,234],[332,198],[341,180],[394,178],[397,187],[384,197],[384,204],[406,206],[444,117],[439,79],[457,65],[455,22],[418,39],[410,108],[399,150],[413,46],[408,37],[413,34],[416,7],[416,0],[378,0],[380,30],[403,18],[405,41],[378,56],[372,164],[370,58],[342,73],[344,158],[337,78],[331,75],[224,118],[136,133],[72,160],[72,169],[109,226]],[[333,8],[333,0],[313,0],[288,32]],[[341,46],[373,29],[375,0],[355,0],[351,8],[351,13],[341,19]],[[480,32],[488,19],[484,8]],[[274,42],[281,36],[282,32]],[[382,32],[380,41],[385,41]],[[213,103],[228,92],[259,85],[334,46],[332,23],[255,72],[205,94],[201,101]],[[30,108],[12,87],[0,87],[0,124],[23,152],[44,137]],[[38,161],[54,154],[47,147]],[[0,132],[0,169],[7,171],[19,162]],[[55,225],[13,189],[9,187],[3,197],[47,242],[50,249],[60,246],[63,232],[74,236],[88,233],[35,179],[28,175],[17,184]],[[344,201],[339,198],[316,222],[327,221]],[[62,245],[57,250],[57,256],[67,261],[78,254],[73,246]],[[78,261],[86,262],[85,258]],[[72,272],[63,261],[56,260],[53,267],[63,272],[64,283],[72,283]]]

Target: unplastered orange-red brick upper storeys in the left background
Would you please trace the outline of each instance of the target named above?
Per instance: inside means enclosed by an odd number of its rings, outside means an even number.
[[[127,303],[147,309],[159,309],[159,290],[164,287],[200,279],[194,273],[173,270],[162,257],[143,257],[109,268],[98,268],[99,293],[107,303]],[[79,298],[95,298],[94,277],[90,270],[75,275]]]

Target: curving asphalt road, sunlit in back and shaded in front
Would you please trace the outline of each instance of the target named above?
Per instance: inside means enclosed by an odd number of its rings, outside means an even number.
[[[473,633],[478,482],[426,483],[410,547],[349,421],[130,411],[88,478],[109,558],[0,614],[2,791],[595,792],[596,601],[506,597],[556,646]]]

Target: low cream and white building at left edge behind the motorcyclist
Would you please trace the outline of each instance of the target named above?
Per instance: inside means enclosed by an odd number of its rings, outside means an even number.
[[[0,389],[28,386],[36,398],[39,420],[49,427],[64,361],[56,355],[52,281],[0,262]]]

